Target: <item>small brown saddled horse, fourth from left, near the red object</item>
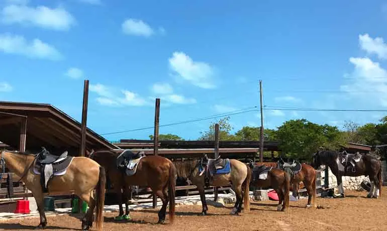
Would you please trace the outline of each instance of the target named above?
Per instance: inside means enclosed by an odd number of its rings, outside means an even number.
[[[249,161],[249,163],[246,164],[249,166],[252,171],[253,180],[251,181],[251,184],[257,187],[272,187],[275,192],[278,195],[278,211],[285,211],[287,207],[289,207],[289,182],[290,182],[290,176],[283,170],[278,168],[271,168],[270,171],[263,170],[261,168],[265,165],[255,165],[252,160]],[[267,168],[268,166],[266,166]],[[271,167],[271,166],[270,166]],[[259,169],[262,169],[262,171],[259,171]],[[258,170],[258,171],[256,171]],[[265,179],[260,178],[260,172],[265,172]],[[258,176],[255,176],[258,175]]]

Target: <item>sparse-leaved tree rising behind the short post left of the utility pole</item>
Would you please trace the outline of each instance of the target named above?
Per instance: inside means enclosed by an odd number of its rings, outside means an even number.
[[[199,140],[215,140],[215,124],[219,124],[219,140],[220,141],[229,141],[236,140],[234,135],[231,135],[230,132],[233,129],[229,123],[230,117],[225,117],[220,119],[218,122],[212,122],[210,124],[209,130],[206,132],[201,132],[202,136]]]

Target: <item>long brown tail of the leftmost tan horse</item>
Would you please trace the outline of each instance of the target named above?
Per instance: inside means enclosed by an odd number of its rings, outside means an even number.
[[[98,230],[101,230],[103,227],[104,221],[104,205],[105,205],[105,186],[106,186],[106,172],[103,166],[100,166],[100,175],[98,179],[98,184],[95,187],[96,191],[96,200],[95,200],[95,224]]]

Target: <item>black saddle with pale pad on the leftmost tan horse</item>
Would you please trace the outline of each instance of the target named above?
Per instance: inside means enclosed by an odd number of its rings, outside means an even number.
[[[73,157],[67,156],[65,151],[61,155],[53,155],[45,148],[37,154],[34,163],[34,173],[40,175],[40,184],[44,193],[48,192],[48,182],[53,176],[61,176],[66,173]]]

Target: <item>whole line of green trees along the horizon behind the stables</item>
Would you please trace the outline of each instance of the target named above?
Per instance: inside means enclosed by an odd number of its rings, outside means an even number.
[[[215,124],[219,124],[219,140],[221,141],[259,141],[260,127],[244,126],[232,133],[230,117],[212,122],[207,131],[201,132],[198,140],[214,140]],[[285,121],[277,129],[264,129],[265,141],[279,142],[282,155],[291,158],[309,159],[318,148],[338,150],[348,143],[364,145],[387,144],[387,116],[378,123],[359,125],[353,121],[345,121],[343,128],[328,124],[319,125],[306,119]],[[153,135],[149,138],[153,140]],[[159,140],[184,140],[178,135],[160,134]],[[385,151],[381,150],[385,156]],[[266,155],[268,155],[266,153]],[[384,159],[384,158],[383,158]]]

